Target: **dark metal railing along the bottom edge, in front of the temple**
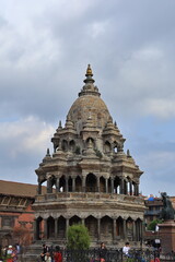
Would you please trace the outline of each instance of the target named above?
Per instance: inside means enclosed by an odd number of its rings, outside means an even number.
[[[52,250],[54,251],[54,250]],[[51,252],[52,252],[51,251]],[[160,253],[158,250],[131,249],[126,255],[122,249],[89,249],[89,250],[68,250],[61,249],[65,262],[174,262],[175,253]],[[38,254],[28,253],[25,262],[40,261]]]

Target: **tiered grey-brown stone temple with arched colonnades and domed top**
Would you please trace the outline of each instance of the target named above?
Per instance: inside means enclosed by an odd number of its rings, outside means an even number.
[[[144,203],[139,195],[142,171],[94,85],[88,67],[84,86],[59,127],[39,167],[34,240],[63,246],[67,228],[84,224],[92,247],[104,241],[121,247],[142,241]],[[42,186],[47,183],[47,192]]]

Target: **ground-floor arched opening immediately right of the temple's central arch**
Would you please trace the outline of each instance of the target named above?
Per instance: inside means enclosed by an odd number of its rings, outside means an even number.
[[[113,219],[109,216],[104,216],[101,219],[101,239],[113,239]]]

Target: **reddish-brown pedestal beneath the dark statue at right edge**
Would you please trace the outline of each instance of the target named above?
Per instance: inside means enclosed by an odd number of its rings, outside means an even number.
[[[162,253],[175,252],[175,222],[159,224]]]

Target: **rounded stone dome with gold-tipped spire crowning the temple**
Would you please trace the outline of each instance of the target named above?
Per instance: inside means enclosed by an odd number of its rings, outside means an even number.
[[[79,93],[79,98],[71,106],[68,116],[81,131],[88,121],[94,128],[104,129],[110,118],[107,106],[100,97],[98,88],[94,86],[93,74],[89,66],[84,80],[85,85]]]

